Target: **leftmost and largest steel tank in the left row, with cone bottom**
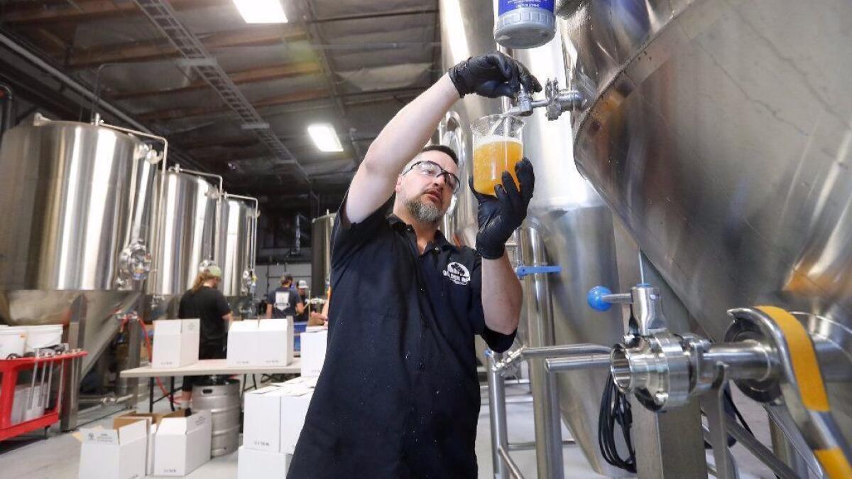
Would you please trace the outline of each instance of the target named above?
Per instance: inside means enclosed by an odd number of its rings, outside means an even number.
[[[89,369],[140,296],[120,261],[147,249],[156,164],[134,136],[39,116],[0,149],[0,320],[69,326]],[[137,256],[138,257],[138,256]]]

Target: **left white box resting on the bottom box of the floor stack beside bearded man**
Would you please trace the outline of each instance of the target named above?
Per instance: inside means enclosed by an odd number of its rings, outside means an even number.
[[[245,393],[243,446],[278,453],[281,449],[281,394],[276,386]]]

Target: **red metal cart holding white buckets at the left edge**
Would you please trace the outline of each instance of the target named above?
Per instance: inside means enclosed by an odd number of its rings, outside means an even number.
[[[27,357],[11,360],[0,360],[0,441],[10,437],[20,436],[26,432],[46,428],[59,421],[62,406],[62,389],[65,384],[66,366],[73,366],[71,361],[87,355],[86,351],[72,351],[53,356]],[[58,367],[57,367],[58,366]],[[12,424],[12,406],[14,401],[14,388],[18,383],[18,374],[21,371],[32,370],[32,388],[39,385],[41,394],[36,398],[31,392],[26,398],[29,406],[34,401],[40,401],[44,407],[44,414],[38,418],[32,418],[18,424]],[[55,407],[48,409],[51,404],[51,387],[54,382],[59,384],[56,388]]]

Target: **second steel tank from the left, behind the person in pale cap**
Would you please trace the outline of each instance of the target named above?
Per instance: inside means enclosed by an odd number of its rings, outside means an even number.
[[[218,188],[187,173],[165,175],[162,233],[158,241],[151,240],[158,247],[147,280],[147,294],[154,297],[152,320],[177,317],[180,296],[193,286],[201,263],[214,256]]]

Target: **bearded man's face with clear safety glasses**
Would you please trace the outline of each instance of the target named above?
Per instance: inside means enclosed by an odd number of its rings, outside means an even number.
[[[431,151],[420,153],[415,161],[429,160],[458,176],[458,167],[445,153]],[[396,180],[396,194],[418,220],[437,222],[444,216],[452,200],[452,188],[446,184],[446,176],[426,176],[417,169],[400,175]],[[415,211],[419,212],[415,213]],[[434,218],[434,219],[433,219]]]

